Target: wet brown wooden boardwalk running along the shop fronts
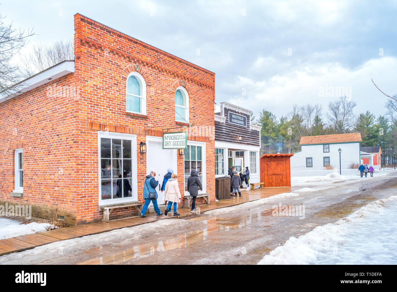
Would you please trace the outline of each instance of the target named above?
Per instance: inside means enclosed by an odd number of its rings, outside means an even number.
[[[292,187],[292,189],[295,188]],[[200,207],[200,213],[204,213],[206,211],[214,209],[220,209],[224,207],[239,205],[246,202],[256,201],[258,199],[263,199],[266,197],[277,195],[279,193],[287,193],[290,192],[292,189],[291,187],[280,187],[263,188],[254,191],[242,191],[242,197],[231,197],[230,199],[224,199],[218,202],[211,202],[211,205],[200,205],[197,207]],[[44,244],[49,244],[51,242],[56,242],[60,240],[66,240],[91,234],[98,234],[110,230],[136,226],[162,219],[181,218],[189,215],[195,215],[195,213],[191,213],[190,209],[187,208],[179,208],[177,211],[181,214],[180,216],[173,216],[173,213],[169,213],[168,216],[157,216],[156,213],[146,213],[146,218],[134,216],[125,219],[113,220],[110,222],[100,221],[86,223],[3,239],[0,240],[0,256],[8,253],[14,253],[17,251],[35,248],[36,246],[42,246]]]

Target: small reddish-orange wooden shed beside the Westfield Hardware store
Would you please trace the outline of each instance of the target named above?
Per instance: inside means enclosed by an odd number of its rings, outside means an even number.
[[[263,154],[260,157],[260,181],[265,183],[265,188],[291,186],[291,156],[293,153]]]

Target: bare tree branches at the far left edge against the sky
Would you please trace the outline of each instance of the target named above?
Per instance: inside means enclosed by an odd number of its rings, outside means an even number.
[[[27,38],[34,35],[33,30],[17,31],[11,23],[6,25],[5,17],[0,14],[0,95],[10,96],[19,90],[18,82],[27,76],[22,74],[19,66],[12,63],[12,58],[25,46]]]

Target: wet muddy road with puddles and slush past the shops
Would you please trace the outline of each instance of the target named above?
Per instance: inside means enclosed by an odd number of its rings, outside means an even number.
[[[256,264],[291,236],[396,195],[396,178],[397,172],[391,172],[302,186],[186,219],[159,220],[4,255],[0,264]]]

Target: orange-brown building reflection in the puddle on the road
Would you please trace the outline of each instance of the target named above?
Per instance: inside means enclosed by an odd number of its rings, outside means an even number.
[[[263,227],[269,227],[274,223],[271,223],[274,218],[270,218],[272,216],[272,210],[268,209],[258,213],[247,214],[243,217],[239,218],[213,218],[203,220],[205,217],[196,217],[189,220],[195,220],[198,222],[202,222],[206,225],[205,228],[194,230],[190,232],[185,232],[182,234],[178,234],[176,236],[172,236],[172,238],[159,240],[156,242],[149,242],[145,244],[140,244],[138,246],[134,246],[133,248],[118,247],[113,244],[104,244],[100,247],[95,247],[91,249],[87,249],[85,252],[90,255],[95,255],[101,252],[101,249],[122,249],[120,251],[114,252],[112,255],[107,255],[105,257],[96,257],[89,259],[87,261],[82,261],[77,264],[88,264],[88,265],[100,265],[100,264],[118,264],[126,261],[130,261],[137,258],[148,257],[150,255],[154,255],[156,252],[168,251],[177,248],[187,248],[192,244],[197,244],[198,242],[206,241],[208,238],[208,234],[212,232],[222,232],[229,231],[232,229],[241,229],[241,228],[251,228],[250,225],[254,221],[262,220],[266,225]]]

